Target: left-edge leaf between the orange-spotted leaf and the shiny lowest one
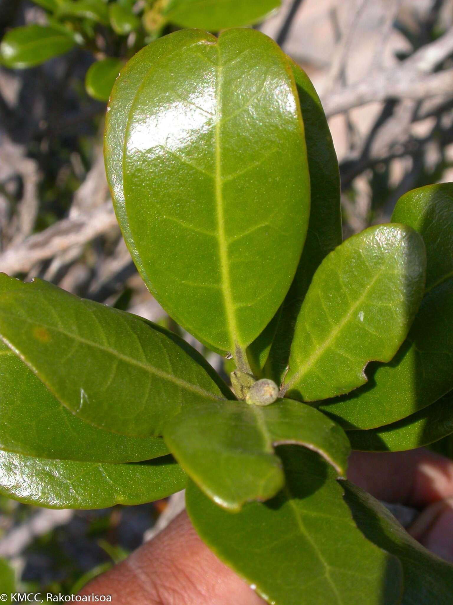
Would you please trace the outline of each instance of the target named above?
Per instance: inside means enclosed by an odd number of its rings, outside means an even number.
[[[0,341],[0,449],[79,462],[140,462],[169,453],[162,439],[101,431],[71,414]]]

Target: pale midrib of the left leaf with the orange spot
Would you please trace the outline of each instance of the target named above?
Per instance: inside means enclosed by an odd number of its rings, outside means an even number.
[[[0,311],[0,315],[7,315],[9,317],[19,319],[19,321],[26,321],[29,324],[36,325],[36,323],[37,323],[36,321],[32,321],[31,319],[28,319],[27,317],[20,317],[18,315],[14,315],[13,313],[5,313],[5,312]],[[176,376],[172,376],[172,374],[167,374],[167,372],[165,372],[163,370],[159,370],[158,368],[155,368],[153,365],[145,364],[141,361],[138,361],[138,359],[134,359],[132,357],[129,357],[128,355],[124,355],[124,353],[120,353],[119,351],[116,351],[115,349],[106,347],[105,345],[101,345],[98,342],[89,341],[88,339],[83,338],[83,336],[71,334],[70,332],[66,332],[66,330],[62,330],[61,328],[57,328],[53,325],[45,325],[42,322],[39,322],[39,325],[40,325],[40,327],[43,327],[47,330],[51,330],[54,332],[58,332],[64,336],[67,336],[68,338],[72,338],[75,341],[85,344],[89,347],[97,348],[100,351],[109,353],[109,355],[112,355],[112,356],[116,357],[117,359],[120,359],[121,361],[126,362],[127,364],[135,365],[136,367],[139,367],[142,370],[149,372],[150,374],[155,374],[155,376],[159,376],[159,378],[162,378],[169,382],[173,382],[173,384],[176,384],[176,385],[178,385],[178,387],[184,388],[187,391],[197,393],[199,395],[207,397],[208,399],[213,399],[214,401],[223,401],[225,399],[224,397],[221,397],[214,393],[210,393],[210,391],[206,391],[204,388],[197,387],[196,385],[190,384],[190,382],[186,382],[186,381],[182,380],[181,378],[176,378]],[[2,336],[2,338],[4,338],[4,337]],[[9,341],[7,339],[5,339],[5,341],[7,343],[9,343]],[[10,343],[10,344],[11,344],[11,347],[14,349],[15,348],[14,345],[12,343]],[[25,361],[25,359],[24,359],[24,361]],[[25,361],[25,362],[28,363],[27,361]]]

